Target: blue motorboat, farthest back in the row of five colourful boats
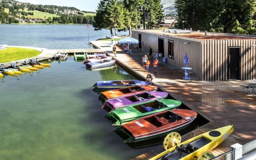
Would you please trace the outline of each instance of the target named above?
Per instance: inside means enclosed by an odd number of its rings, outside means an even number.
[[[109,80],[109,81],[99,81],[94,84],[97,89],[118,89],[126,88],[130,86],[145,86],[151,85],[151,82],[145,82],[140,80]]]

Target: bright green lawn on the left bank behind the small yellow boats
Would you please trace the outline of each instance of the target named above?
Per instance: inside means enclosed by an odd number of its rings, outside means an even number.
[[[21,60],[24,58],[31,58],[37,56],[41,52],[25,48],[6,48],[0,50],[0,63]]]

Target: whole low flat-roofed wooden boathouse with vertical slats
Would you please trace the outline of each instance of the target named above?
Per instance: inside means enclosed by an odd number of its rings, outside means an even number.
[[[184,66],[187,53],[191,74],[198,80],[256,79],[256,36],[170,29],[132,30],[132,37],[144,52],[151,47],[176,68]]]

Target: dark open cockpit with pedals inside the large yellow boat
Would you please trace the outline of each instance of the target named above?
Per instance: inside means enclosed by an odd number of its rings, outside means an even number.
[[[199,148],[202,148],[210,142],[211,141],[207,138],[200,137],[190,143],[176,147],[176,150],[169,152],[167,155],[161,157],[158,160],[179,160],[180,158],[187,156],[188,154],[198,150]]]

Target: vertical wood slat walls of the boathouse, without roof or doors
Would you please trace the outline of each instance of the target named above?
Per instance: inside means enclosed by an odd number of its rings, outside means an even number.
[[[201,40],[178,35],[167,35],[133,30],[132,37],[138,39],[141,34],[144,52],[158,50],[158,38],[164,39],[164,57],[167,63],[180,68],[184,66],[184,54],[188,54],[192,76],[203,81],[228,80],[229,48],[240,47],[240,80],[256,79],[256,39],[220,39]],[[174,42],[174,60],[168,58],[168,40]],[[189,43],[189,44],[185,44]]]

